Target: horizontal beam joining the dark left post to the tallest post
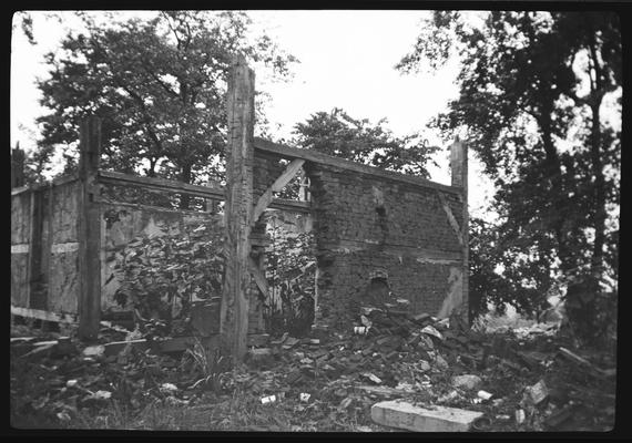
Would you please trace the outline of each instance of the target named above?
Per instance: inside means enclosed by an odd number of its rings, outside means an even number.
[[[156,177],[140,177],[112,171],[99,171],[99,181],[110,185],[141,186],[151,189],[181,193],[197,197],[214,197],[224,199],[224,187],[218,183],[210,183],[207,186],[191,185],[188,183],[170,181]]]

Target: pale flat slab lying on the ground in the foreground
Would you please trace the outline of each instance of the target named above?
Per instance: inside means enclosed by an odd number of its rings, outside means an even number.
[[[370,409],[374,422],[416,432],[467,432],[482,412],[435,406],[432,410],[414,406],[404,401],[385,401]]]

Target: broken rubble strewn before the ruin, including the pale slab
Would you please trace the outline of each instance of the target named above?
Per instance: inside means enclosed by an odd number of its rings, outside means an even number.
[[[364,307],[345,331],[264,336],[245,364],[226,372],[200,350],[156,352],[133,332],[104,324],[103,344],[90,347],[64,337],[11,339],[12,363],[47,379],[45,389],[20,396],[12,373],[12,399],[23,413],[45,409],[60,421],[113,400],[137,410],[156,400],[194,405],[244,394],[261,408],[307,414],[314,426],[317,418],[351,416],[367,431],[581,430],[590,421],[588,430],[606,430],[615,370],[600,365],[615,362],[537,336],[483,334],[457,315],[411,315],[404,302]]]

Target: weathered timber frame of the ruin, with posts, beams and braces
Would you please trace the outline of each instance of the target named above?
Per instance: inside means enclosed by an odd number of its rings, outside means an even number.
[[[78,240],[75,250],[79,254],[79,287],[80,297],[78,311],[48,312],[33,309],[31,306],[33,288],[30,277],[27,281],[29,295],[27,306],[13,306],[12,313],[52,319],[57,321],[73,321],[79,317],[79,333],[82,339],[93,340],[100,328],[100,259],[99,259],[99,229],[100,229],[100,196],[101,185],[124,185],[142,187],[165,193],[179,193],[210,200],[224,200],[224,229],[226,241],[225,275],[222,289],[220,346],[225,353],[231,354],[233,362],[243,360],[248,346],[248,300],[252,288],[256,288],[264,297],[268,293],[267,280],[262,259],[263,247],[257,244],[252,231],[265,227],[262,215],[268,208],[276,208],[303,214],[310,214],[310,202],[299,202],[276,198],[275,193],[282,190],[304,167],[309,164],[326,165],[327,167],[349,171],[367,177],[376,177],[414,187],[432,189],[441,204],[447,220],[460,245],[460,253],[425,250],[418,248],[417,261],[430,264],[446,264],[462,267],[462,295],[468,297],[468,208],[467,208],[467,146],[458,140],[450,147],[450,168],[452,172],[451,185],[442,185],[428,179],[384,171],[377,167],[361,165],[343,158],[337,158],[316,151],[299,150],[278,143],[273,143],[253,136],[254,127],[254,95],[255,74],[247,66],[243,56],[233,62],[232,74],[228,82],[227,117],[228,143],[226,145],[226,186],[210,183],[206,186],[184,184],[180,182],[140,177],[129,174],[101,171],[99,168],[101,122],[96,117],[85,120],[81,125],[80,167],[79,173],[62,177],[47,186],[23,185],[23,153],[12,151],[11,182],[12,198],[31,194],[32,205],[35,205],[35,193],[47,192],[53,186],[79,184],[78,207]],[[256,168],[255,153],[287,159],[289,164],[259,196],[253,193],[253,168]],[[461,224],[447,203],[446,196],[457,198],[462,203],[462,214],[459,214]],[[33,207],[37,207],[33,206]],[[17,243],[11,246],[13,255],[32,253],[37,245],[37,234],[31,233],[29,243]],[[70,244],[69,244],[70,245]],[[359,245],[361,246],[361,245]],[[359,247],[358,246],[358,247]],[[62,246],[49,245],[52,249]],[[351,250],[356,246],[353,241],[342,243],[337,246]],[[406,247],[402,245],[402,248]],[[68,248],[72,249],[70,246]],[[52,250],[51,249],[51,250]],[[70,250],[69,249],[69,250]],[[256,253],[256,254],[255,254]],[[32,256],[32,254],[31,254]],[[29,265],[29,276],[33,267]],[[318,291],[318,290],[317,290]],[[54,296],[54,295],[52,295]]]

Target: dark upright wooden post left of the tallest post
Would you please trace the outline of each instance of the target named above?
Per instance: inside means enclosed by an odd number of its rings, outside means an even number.
[[[94,340],[101,320],[101,220],[94,198],[99,196],[100,119],[90,117],[81,123],[79,150],[79,337]]]

